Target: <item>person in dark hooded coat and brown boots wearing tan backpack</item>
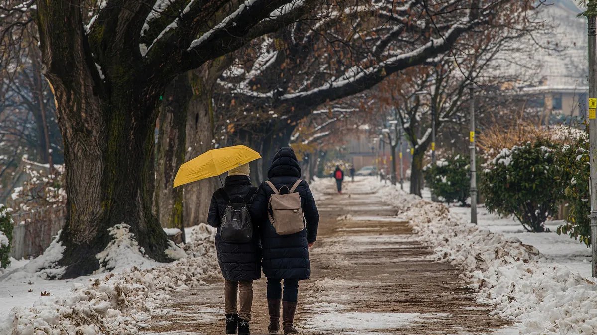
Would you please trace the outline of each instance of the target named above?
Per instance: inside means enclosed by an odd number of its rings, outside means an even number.
[[[291,148],[281,148],[261,183],[251,206],[254,222],[259,224],[263,274],[267,278],[267,309],[270,334],[280,329],[297,333],[294,313],[297,308],[298,281],[311,276],[309,248],[317,239],[319,212],[302,170]],[[284,293],[282,293],[284,280]]]

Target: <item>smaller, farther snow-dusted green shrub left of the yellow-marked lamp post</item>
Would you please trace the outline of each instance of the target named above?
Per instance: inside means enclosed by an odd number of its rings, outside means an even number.
[[[455,200],[465,206],[470,195],[470,162],[469,158],[457,155],[436,162],[435,166],[427,165],[423,169],[425,181],[433,193],[444,199],[446,203]]]

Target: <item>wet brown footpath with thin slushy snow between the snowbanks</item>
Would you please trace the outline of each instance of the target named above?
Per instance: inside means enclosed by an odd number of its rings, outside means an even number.
[[[311,250],[312,279],[299,283],[296,324],[303,334],[488,334],[491,318],[463,289],[459,272],[430,260],[407,222],[364,181],[318,201],[319,236]],[[338,218],[340,217],[340,218]],[[253,334],[266,333],[265,279],[256,281]],[[223,284],[207,283],[152,317],[146,334],[222,334]]]

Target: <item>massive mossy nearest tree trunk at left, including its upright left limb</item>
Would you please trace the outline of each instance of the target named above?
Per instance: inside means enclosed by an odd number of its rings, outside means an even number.
[[[168,240],[152,213],[153,129],[161,83],[168,80],[140,72],[126,53],[115,54],[115,64],[103,64],[104,79],[80,26],[80,8],[38,2],[36,15],[64,142],[68,197],[58,262],[65,266],[63,278],[98,269],[96,255],[112,239],[108,229],[118,224],[130,226],[147,256],[170,260]]]

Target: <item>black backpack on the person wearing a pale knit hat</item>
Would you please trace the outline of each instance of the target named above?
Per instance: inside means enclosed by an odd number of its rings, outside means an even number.
[[[221,219],[220,236],[228,243],[247,243],[253,239],[253,223],[247,208],[247,203],[255,193],[247,194],[245,197],[229,197],[224,189],[221,189],[221,196],[228,203],[224,209]]]

